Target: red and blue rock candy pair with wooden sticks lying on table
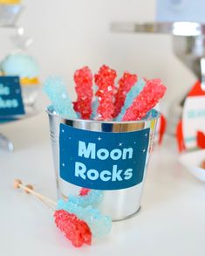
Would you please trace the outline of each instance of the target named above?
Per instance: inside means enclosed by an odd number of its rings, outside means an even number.
[[[91,245],[92,236],[98,238],[106,235],[111,230],[111,218],[102,215],[99,210],[93,209],[91,205],[84,208],[78,204],[73,204],[69,200],[67,202],[59,200],[56,203],[34,191],[31,185],[24,186],[18,179],[14,181],[14,187],[16,189],[21,188],[43,202],[51,204],[52,210],[57,208],[57,210],[53,210],[55,223],[58,229],[65,234],[65,237],[72,241],[73,246]]]

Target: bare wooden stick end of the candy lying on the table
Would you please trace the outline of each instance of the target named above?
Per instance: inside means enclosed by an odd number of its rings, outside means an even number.
[[[14,188],[15,189],[23,189],[26,193],[32,194],[35,197],[38,197],[38,199],[42,200],[45,204],[47,204],[47,203],[51,204],[51,206],[53,208],[55,208],[57,206],[57,203],[55,201],[51,200],[48,197],[44,197],[37,191],[33,190],[33,186],[31,184],[24,185],[21,180],[16,179],[14,181]]]

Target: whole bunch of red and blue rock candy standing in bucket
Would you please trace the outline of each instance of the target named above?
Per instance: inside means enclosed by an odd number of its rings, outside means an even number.
[[[116,86],[117,73],[101,66],[92,75],[84,66],[74,73],[77,100],[72,103],[65,82],[49,78],[44,91],[51,99],[57,114],[68,118],[103,121],[138,121],[159,102],[166,92],[160,79],[138,80],[136,74],[124,73]],[[94,93],[94,86],[98,87]]]

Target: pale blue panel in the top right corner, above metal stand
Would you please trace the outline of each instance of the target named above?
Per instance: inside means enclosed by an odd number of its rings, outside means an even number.
[[[205,0],[157,0],[156,20],[205,23]]]

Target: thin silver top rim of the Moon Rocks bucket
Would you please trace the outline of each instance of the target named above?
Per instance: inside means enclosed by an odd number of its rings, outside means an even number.
[[[107,123],[107,124],[126,124],[126,123],[142,123],[142,122],[147,122],[147,121],[154,121],[154,120],[158,120],[159,117],[161,116],[161,112],[159,112],[156,109],[151,109],[149,111],[149,114],[147,116],[147,118],[141,119],[141,120],[136,120],[136,121],[100,121],[100,120],[90,120],[90,119],[81,119],[81,118],[68,118],[65,116],[61,116],[59,114],[57,114],[55,112],[55,110],[53,109],[52,105],[49,105],[48,107],[45,107],[45,112],[50,115],[50,116],[55,116],[58,117],[60,119],[65,119],[67,121],[84,121],[87,123]]]

